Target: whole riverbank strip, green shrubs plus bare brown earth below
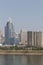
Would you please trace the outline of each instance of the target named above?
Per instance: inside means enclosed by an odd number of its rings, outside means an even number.
[[[43,55],[43,48],[37,47],[0,47],[0,55]]]

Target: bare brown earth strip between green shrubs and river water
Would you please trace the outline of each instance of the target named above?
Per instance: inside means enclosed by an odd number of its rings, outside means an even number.
[[[43,55],[43,50],[0,50],[0,55]]]

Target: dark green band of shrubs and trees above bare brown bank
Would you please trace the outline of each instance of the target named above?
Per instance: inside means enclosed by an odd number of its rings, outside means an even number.
[[[43,47],[18,47],[18,46],[3,46],[0,47],[0,50],[37,50],[37,51],[41,51],[43,50]]]

